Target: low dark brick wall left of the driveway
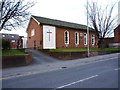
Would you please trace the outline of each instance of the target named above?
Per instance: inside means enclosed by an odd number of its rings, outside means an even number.
[[[24,66],[31,63],[32,54],[2,57],[2,68]]]

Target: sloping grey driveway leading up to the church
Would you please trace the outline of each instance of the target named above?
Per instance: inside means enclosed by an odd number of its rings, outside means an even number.
[[[60,60],[55,59],[53,57],[47,56],[42,52],[39,52],[34,49],[27,49],[26,51],[32,53],[33,58],[33,65],[35,64],[47,64],[47,63],[53,63],[53,62],[60,62]]]

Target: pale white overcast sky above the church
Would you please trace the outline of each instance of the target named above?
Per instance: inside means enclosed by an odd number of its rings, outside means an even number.
[[[103,6],[107,5],[108,3],[111,4],[118,2],[118,0],[97,0],[97,1]],[[30,9],[32,15],[86,25],[86,13],[85,13],[86,0],[35,0],[35,2],[36,5]],[[117,5],[118,4],[116,4],[114,13],[118,12]],[[26,35],[27,25],[28,23],[26,23],[26,27],[24,29],[22,28],[21,30],[1,32],[27,36]]]

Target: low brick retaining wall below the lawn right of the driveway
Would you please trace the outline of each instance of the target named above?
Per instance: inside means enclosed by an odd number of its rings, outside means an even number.
[[[97,55],[104,55],[109,54],[111,52],[103,52],[103,51],[91,51],[90,57],[97,56]],[[48,52],[49,56],[61,59],[61,60],[73,60],[73,59],[79,59],[79,58],[85,58],[87,57],[87,52]]]

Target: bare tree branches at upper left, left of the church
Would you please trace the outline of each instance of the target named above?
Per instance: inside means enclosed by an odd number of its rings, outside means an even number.
[[[25,0],[3,0],[0,6],[0,31],[23,26],[30,15],[28,10],[34,5],[34,2]]]

